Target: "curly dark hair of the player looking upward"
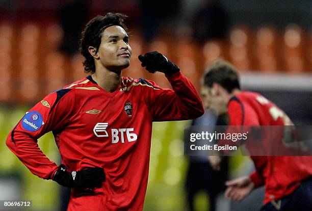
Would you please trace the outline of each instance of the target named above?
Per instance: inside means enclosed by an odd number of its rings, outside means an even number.
[[[83,61],[86,73],[90,72],[93,74],[95,72],[94,59],[88,50],[89,46],[96,47],[98,50],[101,44],[103,30],[111,25],[119,25],[119,27],[122,27],[126,33],[128,33],[124,24],[124,19],[126,17],[125,14],[121,13],[107,13],[105,16],[97,15],[87,23],[79,43],[80,53],[86,58],[86,60]]]

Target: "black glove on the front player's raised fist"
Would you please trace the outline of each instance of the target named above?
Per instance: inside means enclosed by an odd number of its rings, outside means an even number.
[[[142,62],[142,67],[145,67],[150,73],[159,71],[167,75],[172,75],[180,71],[175,64],[157,51],[147,52],[144,56],[139,55],[139,60]]]

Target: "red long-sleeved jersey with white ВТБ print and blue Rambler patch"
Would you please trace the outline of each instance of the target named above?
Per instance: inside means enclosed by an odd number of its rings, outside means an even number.
[[[109,93],[88,76],[37,103],[13,128],[7,146],[33,174],[51,179],[58,166],[37,139],[53,131],[68,170],[102,167],[106,173],[93,193],[73,188],[68,210],[142,210],[152,122],[194,119],[204,112],[182,73],[166,77],[173,90],[122,77],[118,90]]]

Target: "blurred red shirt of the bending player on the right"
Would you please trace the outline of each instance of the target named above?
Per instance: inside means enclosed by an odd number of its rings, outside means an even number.
[[[228,115],[230,125],[291,123],[288,116],[274,103],[255,92],[243,91],[232,97],[228,103]],[[265,204],[290,195],[301,180],[312,175],[310,156],[251,156],[251,159],[256,171],[250,178],[255,188],[265,185]]]

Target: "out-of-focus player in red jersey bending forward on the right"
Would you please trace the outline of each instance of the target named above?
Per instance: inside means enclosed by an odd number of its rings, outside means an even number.
[[[264,96],[242,91],[235,67],[219,60],[204,74],[203,104],[220,115],[228,113],[229,125],[292,125],[289,117]],[[273,140],[271,140],[273,141]],[[225,195],[235,201],[265,186],[262,211],[312,210],[312,157],[251,156],[255,171],[226,182]],[[218,166],[220,160],[211,160]]]

